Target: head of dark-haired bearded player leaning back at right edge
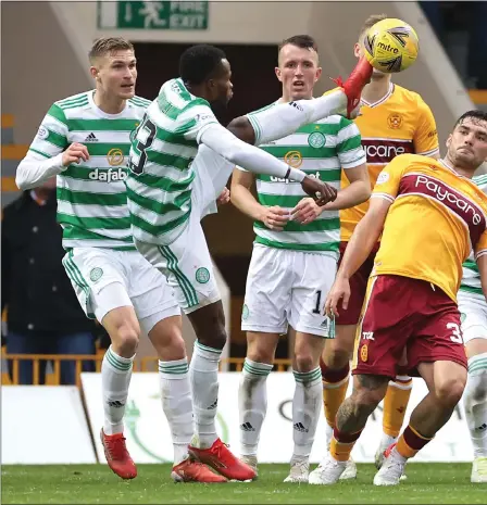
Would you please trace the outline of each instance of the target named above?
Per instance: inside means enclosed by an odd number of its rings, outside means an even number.
[[[454,166],[476,171],[487,161],[487,112],[469,111],[457,121],[447,139],[448,159]]]

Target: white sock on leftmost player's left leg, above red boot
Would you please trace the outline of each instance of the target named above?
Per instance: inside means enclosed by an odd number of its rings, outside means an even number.
[[[125,404],[132,377],[134,356],[122,357],[115,354],[112,346],[107,350],[101,363],[101,392],[103,395],[105,434],[124,431]]]

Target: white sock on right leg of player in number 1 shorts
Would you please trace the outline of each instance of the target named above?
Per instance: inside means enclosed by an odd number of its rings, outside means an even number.
[[[322,371],[316,367],[311,371],[292,370],[296,380],[292,399],[292,439],[295,452],[292,457],[309,457],[316,433],[323,404]]]

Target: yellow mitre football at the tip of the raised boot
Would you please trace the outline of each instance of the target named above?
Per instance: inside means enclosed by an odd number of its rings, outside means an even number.
[[[366,31],[363,46],[369,63],[387,74],[405,71],[420,52],[420,41],[412,26],[390,17]]]

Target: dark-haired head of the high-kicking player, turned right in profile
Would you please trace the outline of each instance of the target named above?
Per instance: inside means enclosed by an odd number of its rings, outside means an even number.
[[[210,103],[226,105],[233,97],[230,64],[214,46],[200,43],[188,48],[179,59],[179,76],[192,93]]]

